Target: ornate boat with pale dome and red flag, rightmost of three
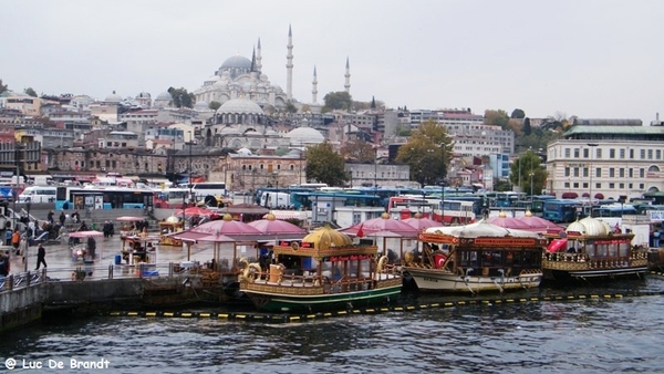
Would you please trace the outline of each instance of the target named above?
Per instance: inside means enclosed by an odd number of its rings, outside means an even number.
[[[626,231],[626,230],[625,230]],[[552,237],[544,257],[544,279],[556,281],[639,277],[647,271],[649,249],[632,243],[634,232],[587,217]]]

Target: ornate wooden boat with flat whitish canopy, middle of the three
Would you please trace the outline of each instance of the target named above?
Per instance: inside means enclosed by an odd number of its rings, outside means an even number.
[[[419,291],[478,293],[539,287],[547,239],[486,220],[425,229],[402,268]],[[407,284],[405,284],[407,285]]]

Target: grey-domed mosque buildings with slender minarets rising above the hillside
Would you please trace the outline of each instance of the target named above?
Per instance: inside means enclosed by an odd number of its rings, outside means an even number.
[[[206,146],[238,148],[279,148],[303,147],[324,142],[324,136],[309,127],[307,121],[300,121],[300,127],[284,134],[278,134],[270,118],[286,108],[288,103],[300,107],[292,97],[293,86],[293,43],[292,30],[288,29],[287,44],[287,85],[286,92],[272,84],[262,73],[262,52],[260,39],[251,60],[235,55],[221,63],[215,74],[204,81],[203,86],[194,91],[196,111],[210,111],[209,103],[221,106],[214,113],[211,121],[203,128],[201,136]],[[346,59],[344,89],[350,93],[350,64]],[[318,76],[313,67],[311,107],[322,107],[318,103]],[[165,97],[166,98],[166,97]],[[158,97],[157,97],[158,100]]]

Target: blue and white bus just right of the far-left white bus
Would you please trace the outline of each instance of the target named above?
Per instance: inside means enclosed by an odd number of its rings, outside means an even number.
[[[154,193],[127,187],[58,187],[55,209],[144,209],[154,206]]]

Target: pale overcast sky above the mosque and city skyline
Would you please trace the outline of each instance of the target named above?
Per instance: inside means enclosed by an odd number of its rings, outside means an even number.
[[[11,90],[103,100],[195,91],[260,38],[263,73],[293,96],[343,91],[388,107],[521,108],[530,117],[664,118],[664,1],[2,1]]]

